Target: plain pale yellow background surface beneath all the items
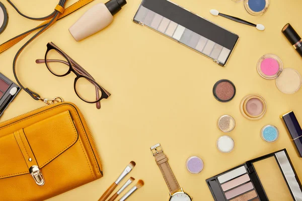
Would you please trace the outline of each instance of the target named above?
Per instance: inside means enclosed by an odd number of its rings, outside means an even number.
[[[42,17],[50,14],[58,1],[13,2],[24,14]],[[74,2],[69,0],[67,6]],[[281,33],[282,27],[289,22],[302,36],[299,0],[272,0],[267,13],[261,17],[249,15],[243,2],[174,0],[241,36],[225,68],[133,23],[140,0],[129,0],[108,28],[76,42],[68,28],[100,2],[95,0],[57,22],[25,49],[17,63],[18,76],[26,87],[42,97],[60,95],[65,101],[79,106],[90,125],[104,164],[103,178],[49,200],[97,200],[131,160],[137,164],[131,176],[136,181],[143,179],[145,185],[129,200],[169,200],[168,187],[149,151],[149,147],[156,143],[162,144],[180,185],[198,201],[212,200],[205,179],[283,148],[287,149],[298,176],[302,178],[302,159],[295,153],[279,119],[282,113],[293,110],[302,124],[302,90],[283,94],[276,88],[274,80],[263,79],[256,70],[258,59],[273,53],[281,58],[285,68],[294,68],[302,74],[301,57]],[[7,29],[0,35],[1,43],[40,23],[21,17],[7,1],[2,3],[7,7],[10,19]],[[250,26],[211,16],[210,9],[263,24],[266,29],[260,32]],[[44,58],[46,44],[50,41],[112,93],[108,99],[102,100],[101,110],[75,95],[74,75],[55,77],[44,64],[35,63],[35,59]],[[13,58],[25,42],[23,40],[0,55],[0,71],[14,81]],[[220,103],[212,95],[213,84],[222,78],[230,79],[237,88],[235,98],[229,103]],[[240,112],[241,99],[249,93],[260,94],[267,102],[267,113],[261,120],[247,120]],[[44,103],[21,91],[1,121],[42,106]],[[220,153],[215,145],[217,138],[223,135],[217,129],[216,121],[224,114],[236,120],[235,130],[229,133],[235,141],[235,149],[229,154]],[[260,130],[267,124],[275,125],[280,131],[275,143],[266,143],[260,138]],[[197,175],[189,173],[185,167],[186,159],[192,155],[204,161],[204,169]]]

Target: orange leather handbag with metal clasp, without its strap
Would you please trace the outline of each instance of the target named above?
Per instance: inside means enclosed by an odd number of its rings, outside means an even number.
[[[58,103],[0,123],[0,200],[43,200],[102,176],[75,105]]]

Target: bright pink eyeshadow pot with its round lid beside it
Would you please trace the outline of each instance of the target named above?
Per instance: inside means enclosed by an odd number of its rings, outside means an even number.
[[[265,79],[275,79],[277,88],[283,93],[294,93],[302,85],[299,72],[292,68],[283,69],[281,59],[274,54],[263,55],[258,60],[257,71]]]

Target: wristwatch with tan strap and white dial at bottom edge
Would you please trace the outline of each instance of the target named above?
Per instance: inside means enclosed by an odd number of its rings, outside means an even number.
[[[170,199],[169,201],[192,201],[192,198],[189,194],[183,191],[179,186],[171,168],[168,163],[168,158],[164,154],[161,144],[156,144],[150,147],[150,150],[155,157],[155,161],[160,167],[160,170],[163,173],[164,179],[169,188]]]

